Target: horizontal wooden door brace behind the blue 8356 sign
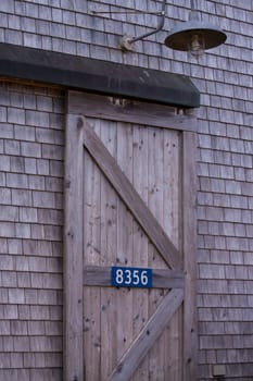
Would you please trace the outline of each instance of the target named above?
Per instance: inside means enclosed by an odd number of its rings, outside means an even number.
[[[111,267],[86,266],[84,269],[85,286],[111,286]],[[185,274],[175,270],[152,270],[153,288],[182,288]]]

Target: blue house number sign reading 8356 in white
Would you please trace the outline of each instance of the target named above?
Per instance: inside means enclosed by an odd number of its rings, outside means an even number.
[[[111,285],[115,287],[152,287],[152,270],[130,267],[112,267]]]

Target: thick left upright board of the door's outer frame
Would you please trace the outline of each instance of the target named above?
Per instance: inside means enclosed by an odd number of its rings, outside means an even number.
[[[64,380],[84,380],[83,357],[83,121],[66,116],[64,225]]]

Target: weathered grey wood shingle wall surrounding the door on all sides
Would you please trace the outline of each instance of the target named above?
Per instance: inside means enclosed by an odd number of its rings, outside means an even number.
[[[153,0],[1,0],[0,41],[169,71],[201,91],[198,163],[199,380],[253,379],[253,3],[195,1],[226,45],[199,61],[162,44],[190,1],[168,0],[164,30],[123,54],[118,38],[156,27]],[[121,7],[122,5],[122,7]],[[0,52],[1,54],[1,52]],[[0,86],[0,379],[61,380],[63,93]]]

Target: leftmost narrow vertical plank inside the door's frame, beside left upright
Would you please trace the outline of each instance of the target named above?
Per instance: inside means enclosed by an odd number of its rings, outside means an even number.
[[[90,121],[100,135],[100,120]],[[84,156],[84,266],[100,266],[101,171],[85,150]],[[101,293],[99,287],[84,287],[84,352],[86,380],[101,380]]]

